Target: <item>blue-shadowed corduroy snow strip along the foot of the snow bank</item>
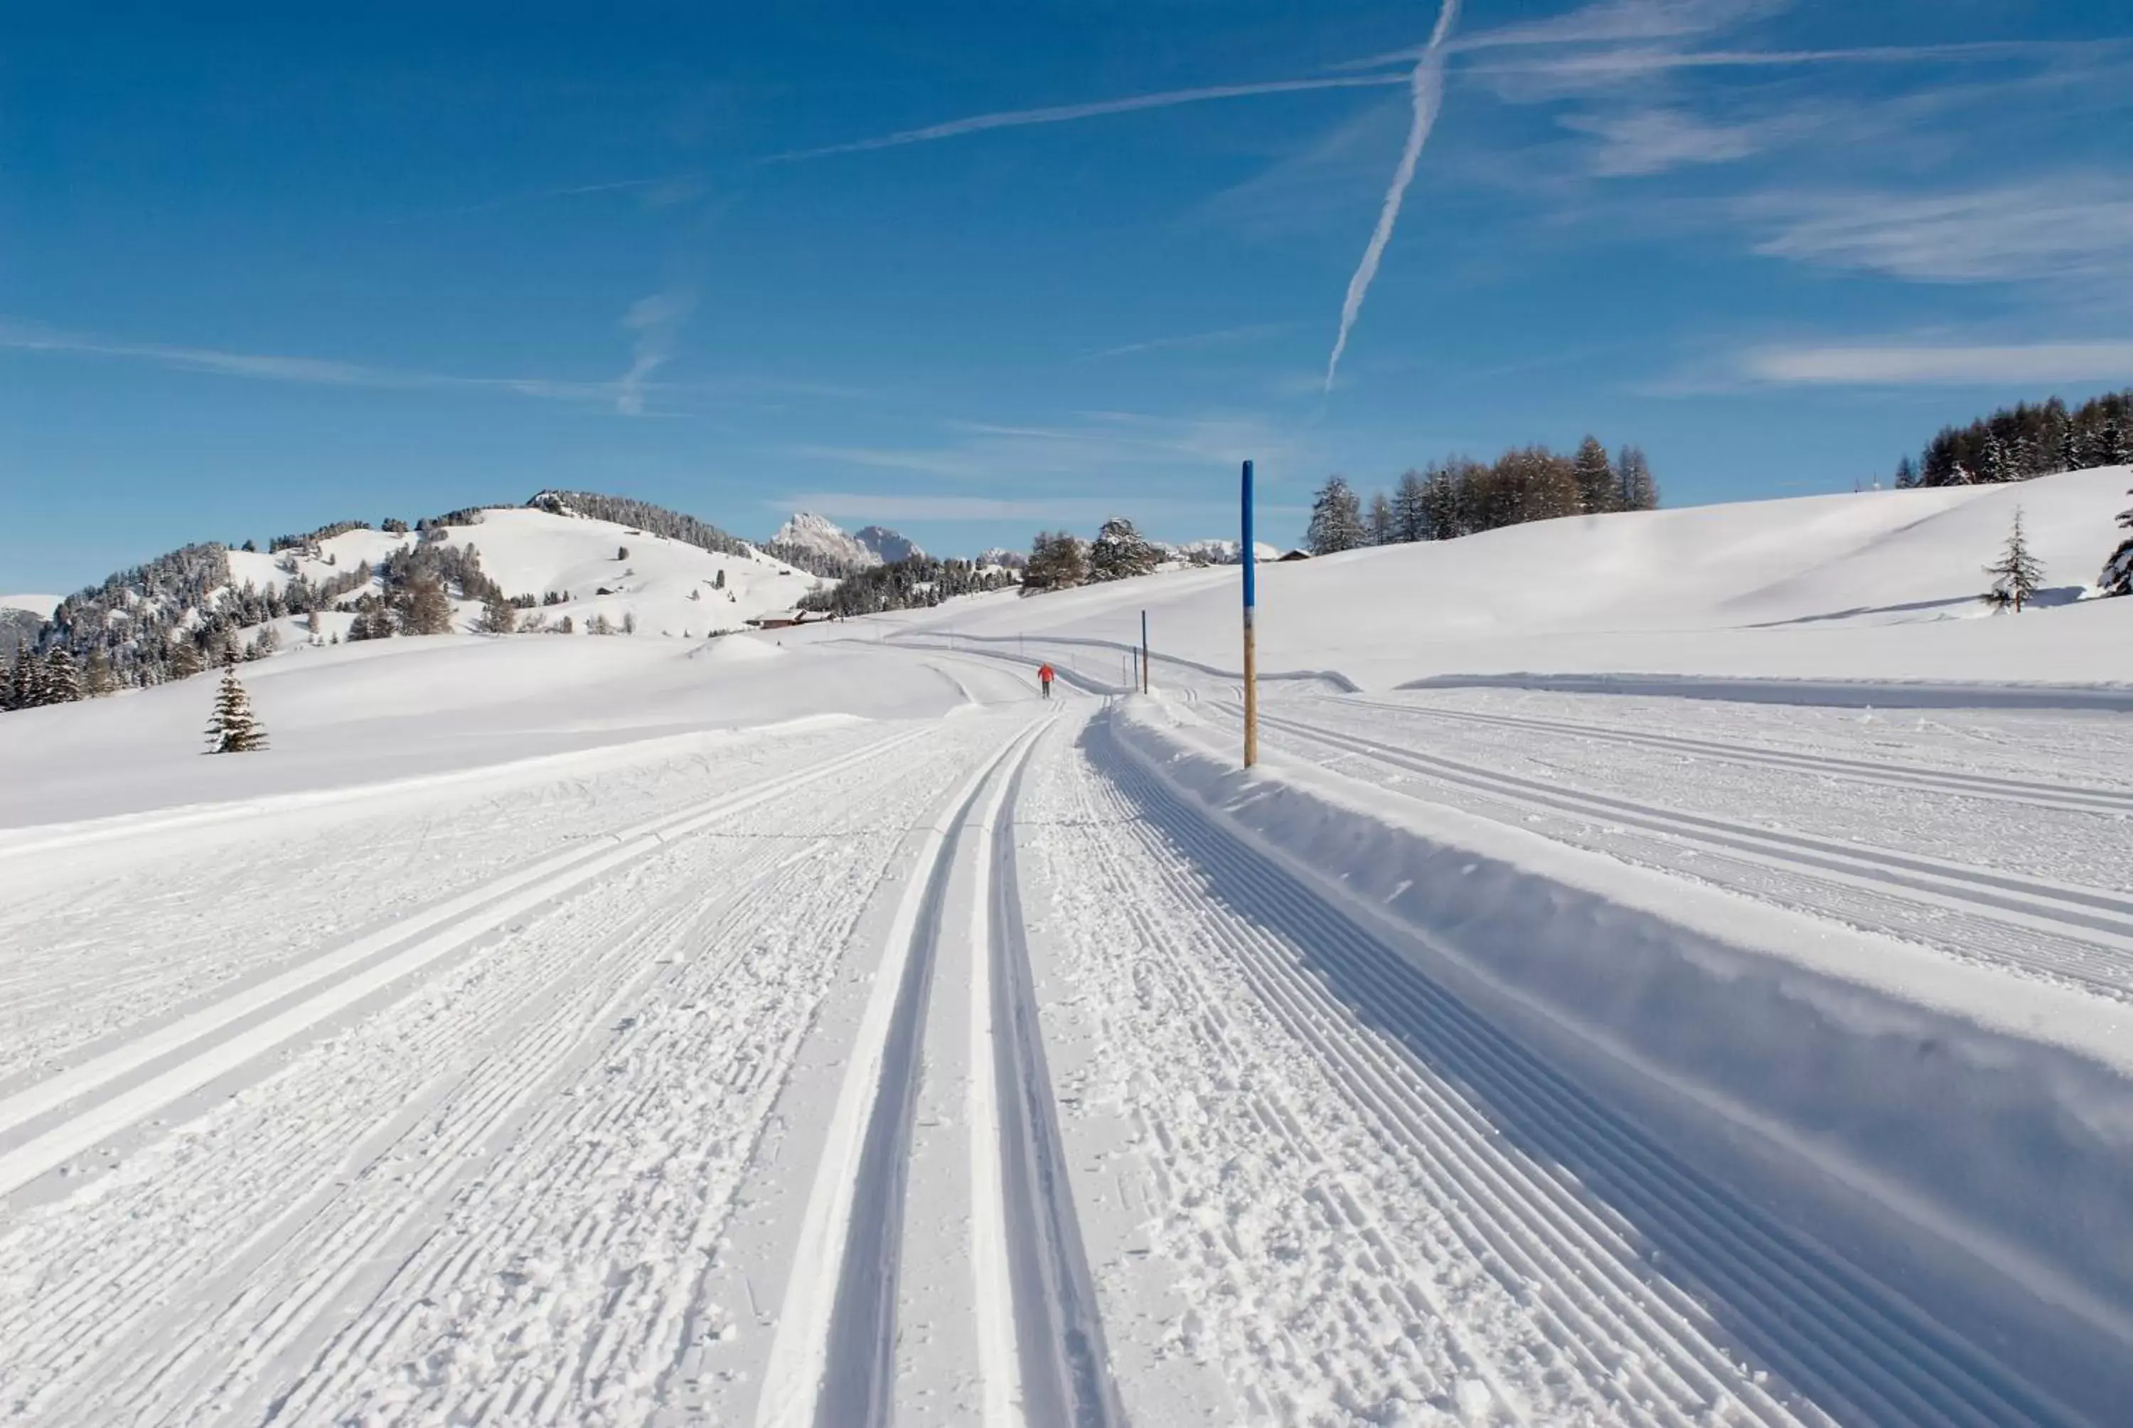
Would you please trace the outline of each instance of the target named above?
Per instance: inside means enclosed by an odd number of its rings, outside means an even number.
[[[1429,1063],[1442,1063],[1510,1112],[1536,1142],[1553,1142],[1557,1155],[1568,1151],[1589,1178],[1606,1185],[1613,1200],[1640,1210],[1645,1238],[1664,1240],[1662,1247],[1691,1266],[1706,1291],[1753,1321],[1753,1351],[1817,1407],[1856,1422],[1920,1428],[2078,1422],[1903,1298],[1766,1223],[1732,1193],[1674,1161],[1290,873],[1269,864],[1214,815],[1145,775],[1130,756],[1113,753],[1111,766],[1120,786],[1145,809],[1160,809],[1160,822],[1194,860],[1263,899],[1267,911],[1301,933],[1301,946],[1369,993],[1372,1016],[1386,1022],[1389,1040],[1382,1044],[1399,1050],[1410,1084],[1431,1080]],[[1333,1025],[1354,1025],[1357,1010],[1322,973],[1288,958],[1263,971],[1269,986],[1286,982],[1288,995],[1316,1003]],[[1342,1052],[1344,1042],[1359,1037],[1314,1040]]]

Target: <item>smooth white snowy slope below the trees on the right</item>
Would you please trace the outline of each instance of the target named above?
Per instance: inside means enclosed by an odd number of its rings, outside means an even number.
[[[1258,570],[1263,670],[1365,687],[1474,672],[2133,683],[2133,600],[2080,600],[2116,544],[2127,467],[1514,525]],[[2046,593],[1977,602],[2022,510]],[[1186,570],[1017,600],[913,630],[1130,645],[1239,664],[1237,572]]]

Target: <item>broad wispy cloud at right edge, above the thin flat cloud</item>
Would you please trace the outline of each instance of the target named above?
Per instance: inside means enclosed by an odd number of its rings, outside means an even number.
[[[2133,190],[2103,177],[1943,194],[1766,194],[1755,252],[1913,282],[2133,277]]]

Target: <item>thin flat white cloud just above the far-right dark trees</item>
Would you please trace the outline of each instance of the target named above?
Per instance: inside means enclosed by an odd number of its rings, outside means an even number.
[[[1741,374],[1817,386],[2118,382],[2133,378],[2133,342],[1773,346],[1743,354]]]

